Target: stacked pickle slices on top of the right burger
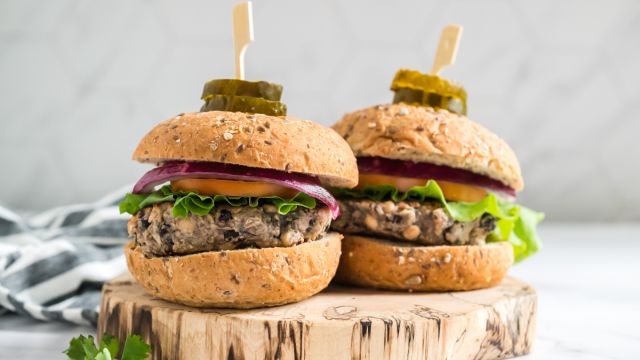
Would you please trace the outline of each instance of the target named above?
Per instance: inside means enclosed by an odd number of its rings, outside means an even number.
[[[439,76],[400,69],[391,83],[394,103],[404,102],[467,114],[467,92],[460,85]]]

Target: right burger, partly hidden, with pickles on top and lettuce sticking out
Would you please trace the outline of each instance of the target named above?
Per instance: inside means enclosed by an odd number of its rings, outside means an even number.
[[[394,103],[345,115],[333,128],[357,157],[360,181],[335,189],[345,234],[337,278],[397,290],[496,285],[538,251],[542,215],[515,203],[518,159],[468,119],[466,92],[400,70]]]

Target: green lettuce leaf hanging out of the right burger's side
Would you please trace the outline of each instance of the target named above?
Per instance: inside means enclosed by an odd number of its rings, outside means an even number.
[[[424,186],[413,186],[400,192],[391,185],[370,185],[360,189],[332,189],[337,198],[370,199],[374,201],[438,201],[447,212],[458,221],[473,221],[488,213],[498,219],[496,230],[488,242],[509,241],[513,245],[516,262],[538,252],[541,246],[536,226],[544,214],[524,206],[502,200],[489,193],[478,202],[449,202],[445,200],[440,186],[429,180]]]

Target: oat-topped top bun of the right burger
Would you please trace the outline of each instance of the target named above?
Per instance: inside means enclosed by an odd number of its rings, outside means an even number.
[[[524,188],[509,145],[482,125],[447,110],[378,105],[345,115],[333,129],[356,156],[446,165],[488,176],[516,191]]]

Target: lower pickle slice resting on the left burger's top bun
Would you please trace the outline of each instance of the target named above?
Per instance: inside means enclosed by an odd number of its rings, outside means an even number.
[[[251,96],[207,95],[200,111],[238,111],[271,116],[287,115],[287,106],[280,101]]]

